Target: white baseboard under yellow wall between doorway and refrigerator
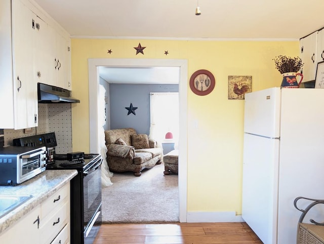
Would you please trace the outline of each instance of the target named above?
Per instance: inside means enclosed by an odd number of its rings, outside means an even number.
[[[187,223],[245,222],[241,215],[228,212],[187,212]]]

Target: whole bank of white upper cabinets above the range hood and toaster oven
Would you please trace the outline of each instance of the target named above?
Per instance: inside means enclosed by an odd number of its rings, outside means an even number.
[[[70,37],[33,0],[1,0],[0,39],[0,128],[36,127],[37,83],[71,90]]]

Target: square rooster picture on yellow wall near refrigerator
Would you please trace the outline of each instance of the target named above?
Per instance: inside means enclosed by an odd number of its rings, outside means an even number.
[[[243,100],[252,92],[252,76],[228,75],[228,99]]]

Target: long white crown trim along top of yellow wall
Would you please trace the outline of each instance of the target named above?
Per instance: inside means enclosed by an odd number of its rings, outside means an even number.
[[[256,42],[294,42],[300,38],[208,38],[208,37],[150,37],[150,36],[96,36],[96,35],[71,35],[74,39],[125,39],[125,40],[242,40]]]

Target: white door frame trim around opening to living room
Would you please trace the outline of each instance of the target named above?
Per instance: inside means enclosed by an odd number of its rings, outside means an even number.
[[[90,152],[99,152],[98,138],[98,66],[140,67],[175,66],[180,67],[179,81],[179,220],[187,222],[187,80],[188,61],[186,59],[88,59],[89,69],[89,113],[90,113]]]

